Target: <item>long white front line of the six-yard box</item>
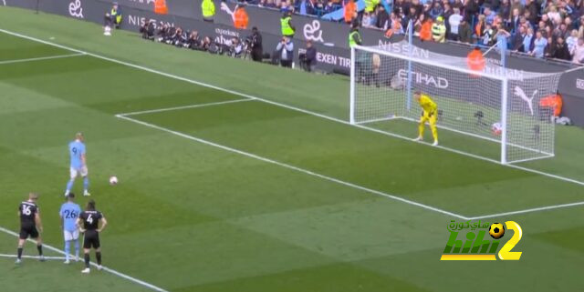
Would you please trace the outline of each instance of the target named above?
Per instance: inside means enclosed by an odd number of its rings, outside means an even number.
[[[352,183],[349,183],[349,182],[340,180],[338,178],[321,175],[321,174],[318,174],[316,172],[310,171],[308,169],[300,168],[298,166],[291,166],[291,165],[288,165],[286,163],[282,163],[282,162],[279,162],[279,161],[276,161],[276,160],[273,160],[273,159],[269,159],[269,158],[266,158],[266,157],[263,157],[263,156],[257,156],[255,154],[251,154],[249,152],[245,152],[245,151],[242,151],[242,150],[239,150],[239,149],[235,149],[235,148],[232,148],[232,147],[229,147],[229,146],[220,145],[220,144],[217,144],[217,143],[214,143],[214,142],[211,142],[211,141],[208,141],[208,140],[204,140],[202,138],[198,138],[198,137],[195,137],[195,136],[186,135],[184,133],[177,132],[177,131],[173,131],[173,130],[171,130],[169,128],[166,128],[166,127],[163,127],[163,126],[156,126],[156,125],[153,125],[153,124],[150,124],[150,123],[147,123],[147,122],[143,122],[141,120],[137,120],[137,119],[134,119],[134,118],[131,118],[131,117],[128,117],[128,116],[120,116],[120,115],[118,115],[118,117],[120,117],[121,119],[125,119],[127,121],[130,121],[130,122],[139,124],[141,126],[148,126],[148,127],[153,128],[153,129],[160,130],[160,131],[166,132],[166,133],[170,133],[170,134],[175,135],[175,136],[181,136],[183,138],[186,138],[186,139],[189,139],[189,140],[193,140],[193,141],[202,143],[202,144],[207,145],[207,146],[214,146],[214,147],[223,149],[225,151],[229,151],[229,152],[233,152],[233,153],[239,154],[241,156],[247,156],[247,157],[251,157],[251,158],[254,158],[254,159],[257,159],[257,160],[260,160],[260,161],[264,161],[266,163],[270,163],[270,164],[273,164],[273,165],[276,165],[276,166],[282,166],[282,167],[285,167],[285,168],[288,168],[288,169],[292,169],[292,170],[295,170],[295,171],[300,172],[300,173],[303,173],[303,174],[307,174],[309,176],[316,176],[318,178],[322,178],[324,180],[328,180],[330,182],[337,183],[337,184],[342,185],[342,186],[349,186],[349,187],[352,187],[352,188],[359,189],[361,191],[368,192],[370,194],[374,194],[374,195],[378,195],[378,196],[385,196],[387,198],[391,198],[393,200],[400,201],[402,203],[406,203],[406,204],[409,204],[409,205],[412,205],[412,206],[419,206],[419,207],[422,207],[423,209],[431,210],[431,211],[434,211],[434,212],[437,212],[437,213],[441,213],[443,215],[454,216],[454,217],[457,217],[457,218],[460,218],[460,219],[468,220],[468,218],[466,216],[458,215],[458,214],[455,214],[455,213],[452,213],[452,212],[449,212],[449,211],[446,211],[446,210],[443,210],[443,209],[439,209],[437,207],[423,205],[422,203],[418,203],[418,202],[415,202],[415,201],[412,201],[412,200],[408,200],[408,199],[403,198],[401,196],[393,196],[393,195],[390,195],[390,194],[387,194],[387,193],[384,193],[384,192],[381,192],[381,191],[378,191],[378,190],[371,189],[369,187],[355,185],[355,184],[352,184]]]

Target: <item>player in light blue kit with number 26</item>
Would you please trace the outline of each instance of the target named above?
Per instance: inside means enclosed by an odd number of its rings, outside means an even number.
[[[58,212],[61,216],[61,227],[63,237],[65,237],[65,264],[69,263],[71,254],[71,242],[75,242],[75,261],[79,260],[79,230],[77,228],[77,218],[81,214],[81,207],[74,203],[75,194],[69,193],[67,202],[61,206]]]

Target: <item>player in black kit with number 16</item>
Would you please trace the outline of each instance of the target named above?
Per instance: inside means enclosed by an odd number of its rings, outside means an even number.
[[[38,250],[38,257],[41,262],[45,261],[43,257],[43,241],[40,233],[43,232],[43,225],[40,221],[40,213],[36,200],[38,195],[35,193],[28,194],[28,200],[20,203],[18,206],[18,216],[20,216],[20,237],[18,238],[18,257],[16,257],[16,264],[22,261],[22,250],[25,247],[25,242],[28,237],[36,240],[36,249]]]

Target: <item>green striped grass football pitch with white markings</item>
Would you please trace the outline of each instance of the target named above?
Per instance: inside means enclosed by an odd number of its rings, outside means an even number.
[[[101,29],[0,7],[0,290],[581,290],[584,130],[558,127],[556,157],[501,166],[457,153],[460,136],[433,147],[348,125],[347,77]],[[61,258],[78,131],[109,221],[108,269],[89,275]],[[54,258],[16,266],[29,191]],[[521,260],[440,261],[445,227],[469,219],[520,224]]]

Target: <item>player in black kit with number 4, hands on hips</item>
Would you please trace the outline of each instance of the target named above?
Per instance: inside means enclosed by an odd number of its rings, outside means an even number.
[[[99,227],[101,222],[101,227]],[[106,217],[95,209],[95,201],[89,200],[86,210],[81,212],[77,219],[77,225],[81,232],[85,233],[83,239],[83,254],[85,256],[85,269],[83,274],[89,274],[89,252],[91,247],[95,248],[95,257],[98,260],[98,270],[101,269],[101,245],[99,243],[99,233],[108,225]]]

